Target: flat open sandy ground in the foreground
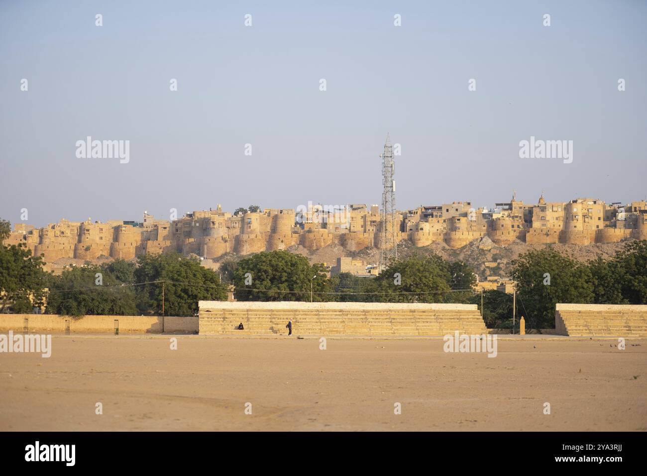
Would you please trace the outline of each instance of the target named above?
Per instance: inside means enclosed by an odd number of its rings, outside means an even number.
[[[645,339],[499,339],[490,358],[442,339],[171,337],[0,354],[0,430],[647,430]]]

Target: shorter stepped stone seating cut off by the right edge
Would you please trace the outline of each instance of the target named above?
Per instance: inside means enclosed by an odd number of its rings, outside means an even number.
[[[555,326],[573,336],[647,336],[647,306],[558,304]]]

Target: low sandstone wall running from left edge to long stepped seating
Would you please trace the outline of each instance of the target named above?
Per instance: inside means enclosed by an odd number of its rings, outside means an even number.
[[[115,321],[117,321],[115,323]],[[80,318],[55,314],[0,314],[0,332],[52,332],[64,334],[197,334],[197,317],[86,315]]]

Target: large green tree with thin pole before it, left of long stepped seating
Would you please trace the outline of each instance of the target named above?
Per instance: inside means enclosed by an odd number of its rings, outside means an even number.
[[[193,315],[199,300],[225,300],[227,296],[218,273],[177,253],[139,256],[135,285],[142,313],[162,313],[162,290],[164,315]]]

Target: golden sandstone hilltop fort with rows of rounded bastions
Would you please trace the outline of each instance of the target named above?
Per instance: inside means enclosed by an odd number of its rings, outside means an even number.
[[[217,260],[226,253],[248,255],[292,245],[316,251],[337,244],[350,252],[382,247],[378,205],[352,204],[331,211],[310,204],[297,210],[231,214],[218,206],[186,213],[177,220],[159,220],[144,212],[142,222],[63,219],[41,228],[16,223],[5,244],[23,243],[48,263],[61,258],[131,260],[168,251]],[[586,245],[647,239],[646,201],[626,205],[589,198],[547,202],[542,194],[532,205],[513,196],[491,209],[474,209],[469,201],[454,201],[398,211],[393,216],[396,240],[407,240],[416,247],[444,242],[457,249],[484,236],[499,246],[516,240]]]

